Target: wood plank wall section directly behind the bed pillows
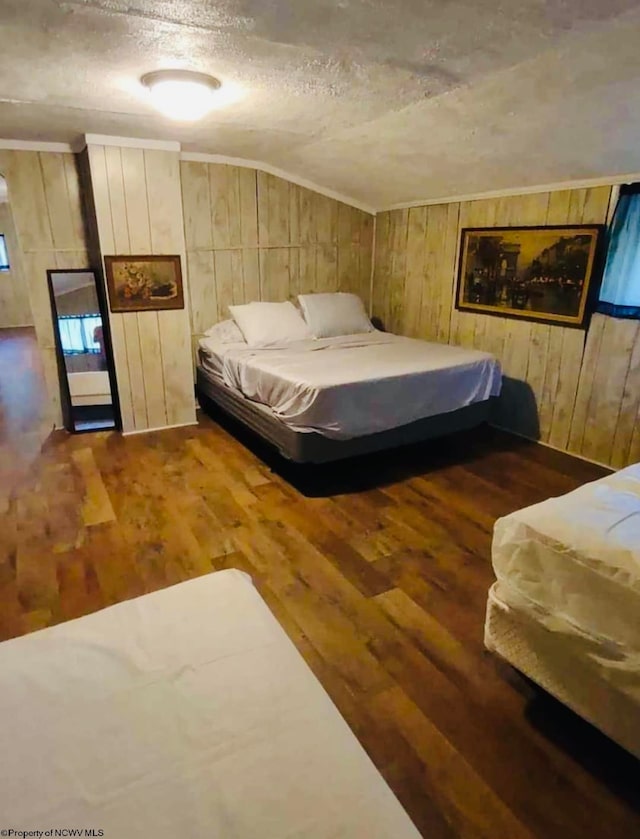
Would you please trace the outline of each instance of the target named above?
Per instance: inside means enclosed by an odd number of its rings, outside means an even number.
[[[230,303],[351,291],[369,304],[373,216],[255,169],[180,166],[194,347]]]

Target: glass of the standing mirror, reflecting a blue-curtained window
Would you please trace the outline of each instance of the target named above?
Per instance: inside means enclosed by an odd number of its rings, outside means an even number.
[[[115,427],[107,352],[96,281],[92,271],[49,271],[69,396],[70,431]]]

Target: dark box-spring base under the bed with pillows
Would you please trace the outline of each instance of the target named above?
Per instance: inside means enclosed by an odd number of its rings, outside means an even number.
[[[295,463],[329,463],[371,452],[393,449],[443,437],[456,431],[474,428],[489,419],[491,400],[477,402],[448,414],[417,420],[408,425],[354,437],[350,440],[334,440],[316,432],[294,431],[279,420],[264,405],[251,402],[237,391],[213,380],[200,367],[196,373],[196,393],[206,397],[227,414],[239,420],[255,434],[274,446],[280,454]],[[200,400],[201,406],[206,404]]]

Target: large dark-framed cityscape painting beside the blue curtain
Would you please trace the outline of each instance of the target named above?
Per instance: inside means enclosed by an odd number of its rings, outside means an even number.
[[[584,327],[604,225],[464,228],[456,308]]]

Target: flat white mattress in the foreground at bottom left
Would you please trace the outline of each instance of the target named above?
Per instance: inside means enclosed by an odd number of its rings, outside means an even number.
[[[238,571],[0,644],[0,715],[4,829],[419,837]]]

